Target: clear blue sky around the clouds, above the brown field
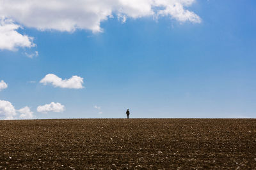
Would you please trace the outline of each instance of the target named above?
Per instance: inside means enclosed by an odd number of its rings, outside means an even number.
[[[19,34],[33,38],[0,50],[0,81],[8,85],[0,100],[12,103],[12,118],[29,111],[33,118],[124,118],[127,108],[132,118],[255,118],[255,1],[177,2],[198,18],[112,11],[100,31],[90,22],[61,31],[0,9],[2,20],[12,19],[22,26]],[[40,83],[47,74],[79,76],[84,88]],[[52,102],[64,108],[38,112]],[[25,106],[29,111],[20,111]]]

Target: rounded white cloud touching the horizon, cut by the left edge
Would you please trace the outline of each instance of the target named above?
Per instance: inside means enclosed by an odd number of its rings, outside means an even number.
[[[16,111],[12,103],[10,103],[9,101],[0,100],[0,118],[10,120],[13,119],[15,115]]]

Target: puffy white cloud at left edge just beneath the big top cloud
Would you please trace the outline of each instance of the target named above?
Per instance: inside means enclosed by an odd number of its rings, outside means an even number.
[[[2,3],[3,1],[0,0],[0,13],[3,10]],[[19,28],[20,25],[0,15],[0,50],[17,50],[17,47],[35,46],[32,42],[33,38],[17,32]]]

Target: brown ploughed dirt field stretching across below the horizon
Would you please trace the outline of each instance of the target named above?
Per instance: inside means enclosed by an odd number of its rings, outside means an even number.
[[[1,120],[0,169],[256,169],[256,119]]]

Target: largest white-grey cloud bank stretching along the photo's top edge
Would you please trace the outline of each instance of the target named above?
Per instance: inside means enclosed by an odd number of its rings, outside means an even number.
[[[195,0],[0,0],[0,17],[12,18],[26,27],[39,30],[74,31],[87,29],[100,32],[100,22],[113,15],[122,18],[168,16],[179,22],[200,22],[193,11],[186,10]],[[14,24],[15,25],[15,24]],[[19,25],[10,29],[13,34]],[[20,34],[20,36],[22,36]],[[25,46],[31,41],[23,36]],[[9,46],[8,48],[12,48]]]

